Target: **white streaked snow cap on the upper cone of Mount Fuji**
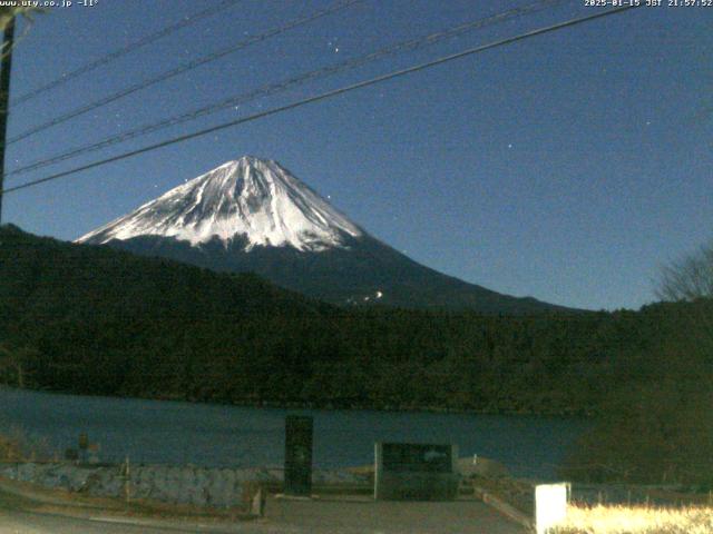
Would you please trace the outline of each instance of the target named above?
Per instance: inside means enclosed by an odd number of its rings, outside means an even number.
[[[242,157],[169,190],[77,243],[173,237],[197,246],[246,238],[245,250],[289,246],[321,251],[362,230],[272,160]]]

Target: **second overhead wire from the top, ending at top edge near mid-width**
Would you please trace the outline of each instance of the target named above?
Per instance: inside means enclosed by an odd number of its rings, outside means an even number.
[[[253,36],[253,37],[248,37],[247,39],[244,39],[240,42],[237,42],[236,44],[233,44],[231,47],[224,48],[222,50],[218,50],[217,52],[213,52],[209,53],[207,56],[204,56],[202,58],[198,59],[194,59],[193,61],[188,61],[187,63],[183,63],[172,70],[162,72],[158,76],[155,76],[154,78],[149,78],[148,80],[141,81],[139,83],[135,83],[134,86],[130,86],[126,89],[123,89],[118,92],[115,92],[114,95],[109,95],[108,97],[101,98],[99,100],[96,100],[94,102],[90,102],[86,106],[82,106],[80,108],[76,108],[65,115],[60,115],[59,117],[56,117],[51,120],[48,120],[47,122],[43,122],[39,126],[36,126],[33,128],[30,128],[29,130],[23,131],[22,134],[19,134],[18,136],[14,136],[12,138],[10,138],[7,141],[7,145],[12,145],[17,141],[20,141],[22,139],[26,139],[30,136],[33,136],[35,134],[39,134],[40,131],[47,130],[48,128],[51,128],[53,126],[57,125],[61,125],[62,122],[66,122],[70,119],[74,119],[76,117],[79,117],[80,115],[84,115],[88,111],[91,111],[94,109],[100,108],[102,106],[106,106],[108,103],[111,103],[116,100],[119,100],[120,98],[127,97],[129,95],[133,95],[134,92],[140,91],[143,89],[146,89],[148,87],[155,86],[156,83],[159,83],[162,81],[166,81],[170,78],[174,78],[178,75],[183,75],[184,72],[188,72],[189,70],[193,70],[197,67],[201,67],[203,65],[209,63],[212,61],[215,61],[217,59],[221,59],[229,53],[236,52],[237,50],[242,50],[243,48],[246,48],[251,44],[254,44],[256,42],[262,42],[265,41],[272,37],[279,36],[281,33],[284,33],[289,30],[292,30],[294,28],[299,28],[300,26],[304,26],[309,22],[312,22],[316,19],[320,19],[322,17],[325,17],[328,14],[334,13],[336,11],[340,11],[342,9],[349,8],[355,3],[360,3],[363,0],[342,0],[339,1],[332,6],[330,6],[329,8],[322,9],[320,11],[316,11],[313,14],[310,14],[307,17],[300,17],[297,19],[294,19],[290,22],[287,22],[284,26],[277,27],[277,28],[273,28],[270,29],[263,33],[260,33],[257,36]]]

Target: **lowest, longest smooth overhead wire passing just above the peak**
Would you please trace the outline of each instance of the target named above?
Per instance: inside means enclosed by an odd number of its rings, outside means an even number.
[[[364,87],[370,87],[370,86],[374,86],[377,83],[382,83],[384,81],[392,80],[394,78],[400,78],[400,77],[403,77],[403,76],[407,76],[407,75],[411,75],[413,72],[426,70],[426,69],[429,69],[431,67],[436,67],[436,66],[439,66],[439,65],[442,65],[442,63],[446,63],[446,62],[450,62],[450,61],[453,61],[453,60],[457,60],[457,59],[461,59],[461,58],[465,58],[465,57],[468,57],[468,56],[472,56],[472,55],[476,55],[476,53],[479,53],[479,52],[484,52],[486,50],[491,50],[494,48],[499,48],[499,47],[502,47],[502,46],[506,46],[506,44],[510,44],[512,42],[522,41],[522,40],[529,39],[531,37],[541,36],[544,33],[550,33],[553,31],[557,31],[557,30],[560,30],[560,29],[564,29],[564,28],[569,28],[569,27],[573,27],[573,26],[582,24],[584,22],[589,22],[592,20],[596,20],[596,19],[600,19],[600,18],[604,18],[604,17],[608,17],[611,14],[623,13],[623,12],[628,11],[631,9],[639,8],[641,6],[643,6],[643,4],[639,4],[639,6],[632,4],[632,6],[626,6],[626,7],[622,7],[622,8],[609,9],[609,10],[604,11],[604,12],[594,13],[594,14],[589,14],[589,16],[580,17],[580,18],[576,18],[576,19],[570,19],[570,20],[567,20],[565,22],[558,22],[556,24],[551,24],[551,26],[548,26],[548,27],[545,27],[545,28],[539,28],[537,30],[531,30],[531,31],[527,31],[525,33],[519,33],[518,36],[515,36],[515,37],[509,37],[509,38],[506,38],[506,39],[500,39],[498,41],[492,41],[492,42],[490,42],[488,44],[482,44],[482,46],[479,46],[479,47],[476,47],[476,48],[470,48],[470,49],[463,50],[461,52],[452,53],[450,56],[445,56],[445,57],[441,57],[439,59],[434,59],[434,60],[431,60],[431,61],[428,61],[428,62],[424,62],[424,63],[420,63],[420,65],[417,65],[417,66],[413,66],[413,67],[408,67],[406,69],[397,70],[397,71],[390,72],[388,75],[382,75],[382,76],[378,76],[375,78],[371,78],[369,80],[364,80],[364,81],[360,81],[360,82],[356,82],[356,83],[352,83],[350,86],[345,86],[345,87],[342,87],[340,89],[334,89],[334,90],[331,90],[331,91],[322,92],[320,95],[315,95],[313,97],[307,97],[305,99],[297,100],[295,102],[287,103],[285,106],[280,106],[277,108],[272,108],[272,109],[268,109],[268,110],[265,110],[265,111],[261,111],[258,113],[254,113],[254,115],[251,115],[251,116],[247,116],[247,117],[243,117],[241,119],[231,120],[229,122],[224,122],[224,123],[218,125],[218,126],[214,126],[214,127],[211,127],[211,128],[198,130],[198,131],[195,131],[193,134],[186,134],[184,136],[174,137],[172,139],[167,139],[165,141],[157,142],[155,145],[149,145],[147,147],[139,148],[139,149],[136,149],[136,150],[131,150],[129,152],[120,154],[118,156],[113,156],[113,157],[107,158],[107,159],[102,159],[102,160],[99,160],[99,161],[94,161],[91,164],[82,165],[80,167],[76,167],[76,168],[70,169],[70,170],[66,170],[66,171],[62,171],[62,172],[57,172],[55,175],[50,175],[50,176],[47,176],[45,178],[39,178],[37,180],[28,181],[28,182],[19,185],[19,186],[7,188],[7,189],[0,191],[0,194],[8,194],[8,192],[17,191],[17,190],[20,190],[20,189],[27,189],[29,187],[33,187],[33,186],[37,186],[37,185],[40,185],[40,184],[46,184],[48,181],[57,180],[59,178],[65,178],[67,176],[76,175],[77,172],[81,172],[81,171],[85,171],[85,170],[94,169],[96,167],[101,167],[104,165],[111,164],[111,162],[115,162],[115,161],[120,161],[123,159],[131,158],[131,157],[138,156],[140,154],[150,152],[150,151],[157,150],[159,148],[164,148],[164,147],[168,147],[170,145],[176,145],[178,142],[183,142],[183,141],[187,141],[187,140],[191,140],[191,139],[195,139],[196,137],[207,136],[208,134],[214,134],[216,131],[224,130],[226,128],[232,128],[234,126],[243,125],[245,122],[252,122],[254,120],[262,119],[262,118],[265,118],[265,117],[270,117],[272,115],[281,113],[283,111],[287,111],[287,110],[295,109],[295,108],[300,108],[302,106],[306,106],[307,103],[318,102],[320,100],[326,100],[329,98],[333,98],[333,97],[336,97],[339,95],[351,92],[351,91],[356,90],[356,89],[362,89]]]

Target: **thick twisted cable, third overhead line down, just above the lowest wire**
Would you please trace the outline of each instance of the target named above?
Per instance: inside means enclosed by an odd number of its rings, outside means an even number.
[[[215,113],[216,111],[223,110],[225,108],[228,107],[234,107],[236,105],[243,105],[246,103],[248,101],[255,100],[257,98],[262,98],[262,97],[267,97],[267,96],[272,96],[275,95],[277,92],[282,92],[285,91],[287,89],[292,89],[294,87],[299,87],[303,83],[310,82],[310,81],[314,81],[318,79],[323,79],[330,76],[334,76],[336,73],[340,72],[344,72],[346,70],[351,70],[351,69],[355,69],[358,67],[364,66],[369,62],[375,61],[378,59],[381,59],[383,57],[387,56],[391,56],[394,53],[399,53],[402,51],[412,51],[412,50],[417,50],[417,49],[421,49],[424,48],[427,46],[431,46],[431,44],[436,44],[438,42],[441,42],[446,39],[450,39],[457,36],[461,36],[466,32],[476,30],[476,29],[481,29],[485,28],[487,26],[491,26],[491,24],[496,24],[499,22],[504,22],[506,20],[510,20],[512,18],[516,17],[521,17],[525,14],[529,14],[536,11],[540,11],[544,9],[549,9],[551,7],[555,7],[557,4],[561,4],[565,2],[568,2],[569,0],[539,0],[537,2],[534,3],[529,3],[526,6],[521,6],[518,8],[514,8],[487,18],[482,18],[482,19],[478,19],[475,21],[469,21],[469,22],[465,22],[462,24],[459,24],[457,27],[453,28],[449,28],[447,30],[442,30],[442,31],[438,31],[434,33],[430,33],[428,36],[424,37],[418,37],[414,39],[409,39],[407,41],[401,41],[398,42],[395,44],[391,44],[384,48],[381,48],[374,52],[370,52],[367,55],[362,55],[362,56],[358,56],[355,58],[351,58],[351,59],[346,59],[345,61],[341,61],[339,63],[335,63],[333,66],[328,66],[328,67],[323,67],[306,73],[301,73],[297,76],[294,76],[292,78],[287,78],[285,80],[279,81],[279,82],[273,82],[273,83],[268,83],[265,86],[262,86],[257,89],[253,89],[252,91],[247,91],[244,93],[240,93],[240,95],[234,95],[231,96],[226,99],[223,99],[216,103],[212,103],[208,106],[204,106],[202,108],[198,109],[194,109],[193,111],[188,111],[185,113],[180,113],[180,115],[176,115],[174,117],[160,120],[158,122],[153,122],[149,125],[144,125],[141,127],[135,128],[133,130],[126,131],[124,134],[118,134],[118,135],[114,135],[110,136],[108,138],[105,138],[100,141],[94,142],[91,145],[86,145],[82,147],[78,147],[75,149],[71,149],[69,151],[59,154],[57,156],[52,156],[50,158],[46,158],[46,159],[38,159],[35,160],[28,165],[25,165],[22,167],[16,168],[13,170],[11,170],[10,172],[8,172],[6,176],[7,177],[12,177],[12,176],[18,176],[18,175],[23,175],[27,174],[31,170],[37,170],[39,168],[42,167],[47,167],[49,165],[53,165],[53,164],[58,164],[60,161],[65,161],[67,159],[71,159],[74,157],[80,156],[82,154],[88,154],[88,152],[92,152],[92,151],[97,151],[104,148],[108,148],[110,146],[120,144],[120,142],[125,142],[128,141],[130,139],[135,139],[137,137],[141,137],[148,134],[154,134],[156,131],[159,131],[162,129],[172,127],[172,126],[176,126],[179,123],[184,123],[191,120],[195,120],[199,117],[204,117],[211,113]]]

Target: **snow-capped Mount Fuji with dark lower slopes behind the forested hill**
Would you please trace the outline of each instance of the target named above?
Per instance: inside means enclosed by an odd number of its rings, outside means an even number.
[[[77,239],[219,271],[253,271],[340,305],[566,310],[420,265],[352,222],[276,161],[242,157]]]

